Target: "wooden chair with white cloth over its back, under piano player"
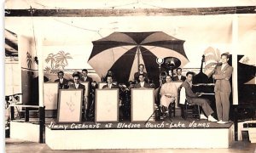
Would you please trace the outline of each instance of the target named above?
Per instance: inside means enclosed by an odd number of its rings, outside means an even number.
[[[186,99],[185,88],[178,88],[178,102],[180,105],[183,105],[182,116],[186,120],[187,116],[196,116],[200,120],[200,105],[189,104]]]

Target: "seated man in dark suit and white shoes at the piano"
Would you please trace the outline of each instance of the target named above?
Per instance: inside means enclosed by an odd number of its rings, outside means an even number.
[[[212,117],[213,111],[212,111],[211,106],[208,104],[209,100],[198,98],[201,96],[201,94],[198,94],[198,93],[194,94],[194,92],[192,91],[191,88],[192,88],[193,75],[194,75],[193,72],[191,72],[191,71],[187,72],[186,80],[181,85],[181,87],[185,88],[186,99],[188,100],[189,104],[200,105],[202,107],[202,110],[207,115],[209,122],[217,122],[217,120]]]

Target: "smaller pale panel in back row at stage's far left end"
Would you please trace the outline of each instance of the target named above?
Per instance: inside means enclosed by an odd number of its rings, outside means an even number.
[[[45,110],[57,110],[58,106],[58,82],[44,83],[44,106]]]

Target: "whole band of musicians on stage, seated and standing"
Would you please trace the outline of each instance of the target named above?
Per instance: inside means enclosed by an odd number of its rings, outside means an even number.
[[[102,82],[106,82],[102,88],[119,88],[119,118],[121,120],[131,118],[131,88],[154,88],[154,101],[155,105],[159,107],[161,118],[166,117],[168,107],[177,101],[177,91],[180,88],[185,88],[188,103],[201,106],[201,110],[207,116],[209,122],[226,123],[229,122],[229,80],[233,71],[232,67],[227,63],[228,60],[229,54],[221,55],[222,65],[216,66],[212,71],[213,82],[196,82],[196,84],[193,84],[194,77],[198,79],[195,73],[188,71],[183,76],[183,70],[180,67],[177,67],[175,71],[161,71],[159,75],[160,82],[154,82],[154,80],[158,79],[150,78],[145,71],[145,66],[140,64],[138,65],[138,71],[134,74],[134,79],[126,83],[119,82],[114,76],[115,72],[108,70],[106,77],[102,77]],[[84,101],[86,100],[87,106],[83,102],[82,116],[84,121],[93,121],[96,111],[95,100],[98,83],[88,76],[88,71],[83,69],[81,72],[74,72],[73,80],[67,80],[64,78],[64,72],[59,71],[58,79],[55,82],[59,82],[59,88],[81,88],[83,93],[85,90],[89,90],[88,97],[83,99]],[[89,82],[89,88],[85,88],[81,82]],[[177,87],[173,82],[180,82],[180,86]],[[220,87],[220,84],[223,83],[226,84],[226,88]],[[207,89],[206,86],[208,87]],[[214,105],[215,100],[216,105]]]

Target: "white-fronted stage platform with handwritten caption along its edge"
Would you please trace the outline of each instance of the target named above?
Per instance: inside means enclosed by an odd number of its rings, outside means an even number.
[[[56,123],[45,125],[52,150],[229,148],[234,124],[181,117],[157,122]]]

